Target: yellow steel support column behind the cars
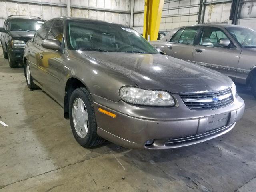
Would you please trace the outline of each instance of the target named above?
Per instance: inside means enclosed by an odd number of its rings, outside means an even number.
[[[145,0],[143,37],[157,40],[164,0]]]

